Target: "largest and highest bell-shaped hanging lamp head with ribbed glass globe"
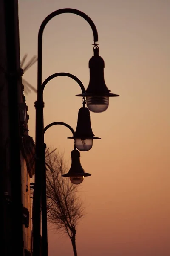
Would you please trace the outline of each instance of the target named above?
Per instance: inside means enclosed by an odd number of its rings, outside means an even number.
[[[109,97],[119,96],[110,93],[104,79],[105,62],[99,56],[99,48],[94,48],[94,56],[89,61],[90,82],[85,93],[76,96],[85,96],[87,107],[90,111],[100,113],[105,111],[109,105]]]

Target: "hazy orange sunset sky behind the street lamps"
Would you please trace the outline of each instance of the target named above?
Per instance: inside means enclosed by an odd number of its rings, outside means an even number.
[[[19,0],[20,54],[37,55],[40,24],[51,12],[75,8],[94,21],[105,82],[112,93],[107,111],[91,112],[93,148],[81,152],[92,173],[81,185],[86,215],[78,226],[79,256],[170,256],[170,1]],[[42,80],[57,72],[89,83],[91,27],[62,14],[46,26]],[[27,61],[28,61],[27,60]],[[37,64],[23,77],[37,87]],[[44,124],[66,122],[76,129],[82,99],[78,84],[55,78],[44,90]],[[36,93],[26,95],[29,134],[35,140]],[[54,126],[45,143],[70,159],[71,131]],[[49,230],[49,256],[73,255],[67,236]]]

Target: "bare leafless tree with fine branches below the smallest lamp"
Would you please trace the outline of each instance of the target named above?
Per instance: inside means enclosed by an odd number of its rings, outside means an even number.
[[[48,221],[71,239],[74,256],[77,256],[77,224],[83,217],[84,208],[77,195],[78,186],[61,175],[67,171],[63,154],[46,151],[47,212]]]

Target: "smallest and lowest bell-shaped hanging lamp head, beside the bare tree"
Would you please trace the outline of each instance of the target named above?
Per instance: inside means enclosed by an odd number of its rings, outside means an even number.
[[[80,152],[77,149],[71,151],[71,167],[68,173],[62,174],[62,177],[69,177],[71,183],[78,185],[83,182],[84,177],[91,176],[83,170],[80,163]]]

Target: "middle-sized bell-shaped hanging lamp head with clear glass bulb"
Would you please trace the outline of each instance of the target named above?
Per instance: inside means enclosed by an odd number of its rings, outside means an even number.
[[[91,129],[90,111],[88,108],[82,107],[79,109],[75,134],[72,137],[68,137],[68,139],[74,139],[76,148],[80,151],[90,150],[93,146],[93,140],[100,139],[94,136]]]

